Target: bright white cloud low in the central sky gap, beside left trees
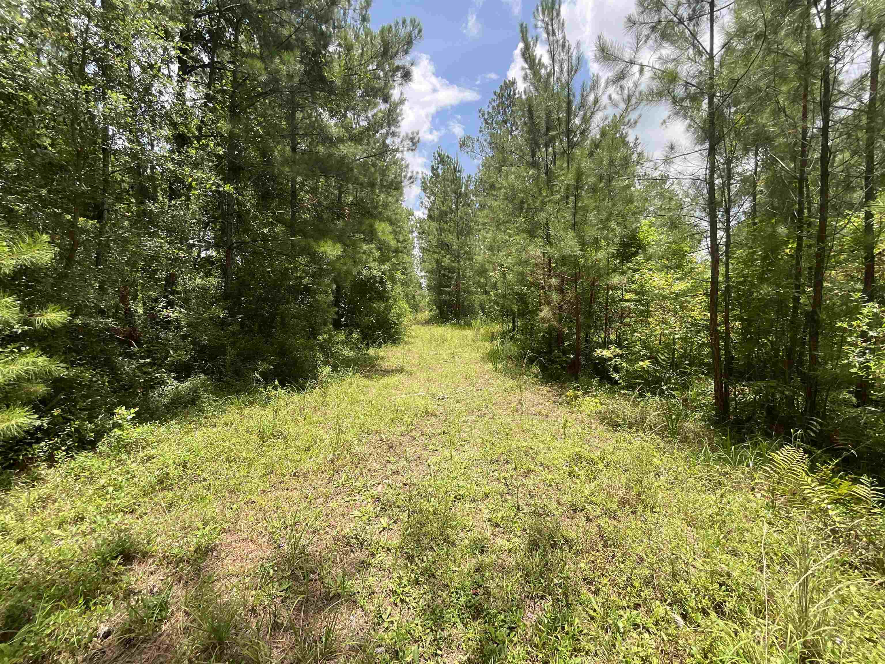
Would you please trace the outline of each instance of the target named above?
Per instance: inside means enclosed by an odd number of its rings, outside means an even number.
[[[445,127],[435,127],[435,114],[458,104],[479,101],[480,95],[476,90],[462,88],[437,76],[433,61],[424,53],[416,55],[415,65],[412,67],[412,82],[402,89],[402,93],[405,97],[403,131],[417,131],[422,143],[427,144],[426,148],[404,155],[409,169],[416,172],[419,178],[414,185],[406,188],[405,203],[412,209],[417,209],[420,176],[427,173],[433,143],[438,142],[447,132],[460,138],[465,131],[464,125],[458,121],[459,116],[455,116]]]

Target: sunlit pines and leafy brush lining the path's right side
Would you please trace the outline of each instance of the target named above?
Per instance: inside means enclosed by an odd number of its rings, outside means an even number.
[[[581,384],[699,383],[712,421],[881,472],[883,22],[864,0],[640,0],[587,78],[543,0],[523,80],[461,141],[479,172],[437,154],[422,181],[438,313],[483,313],[499,353]],[[643,153],[643,104],[685,144]]]

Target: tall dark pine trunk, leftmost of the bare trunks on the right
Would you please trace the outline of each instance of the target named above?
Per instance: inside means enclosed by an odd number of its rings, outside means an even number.
[[[707,216],[710,219],[710,349],[713,368],[713,404],[716,418],[727,417],[725,383],[722,380],[722,351],[719,334],[719,228],[716,223],[716,104],[714,24],[716,0],[710,0],[710,35],[707,52]]]

